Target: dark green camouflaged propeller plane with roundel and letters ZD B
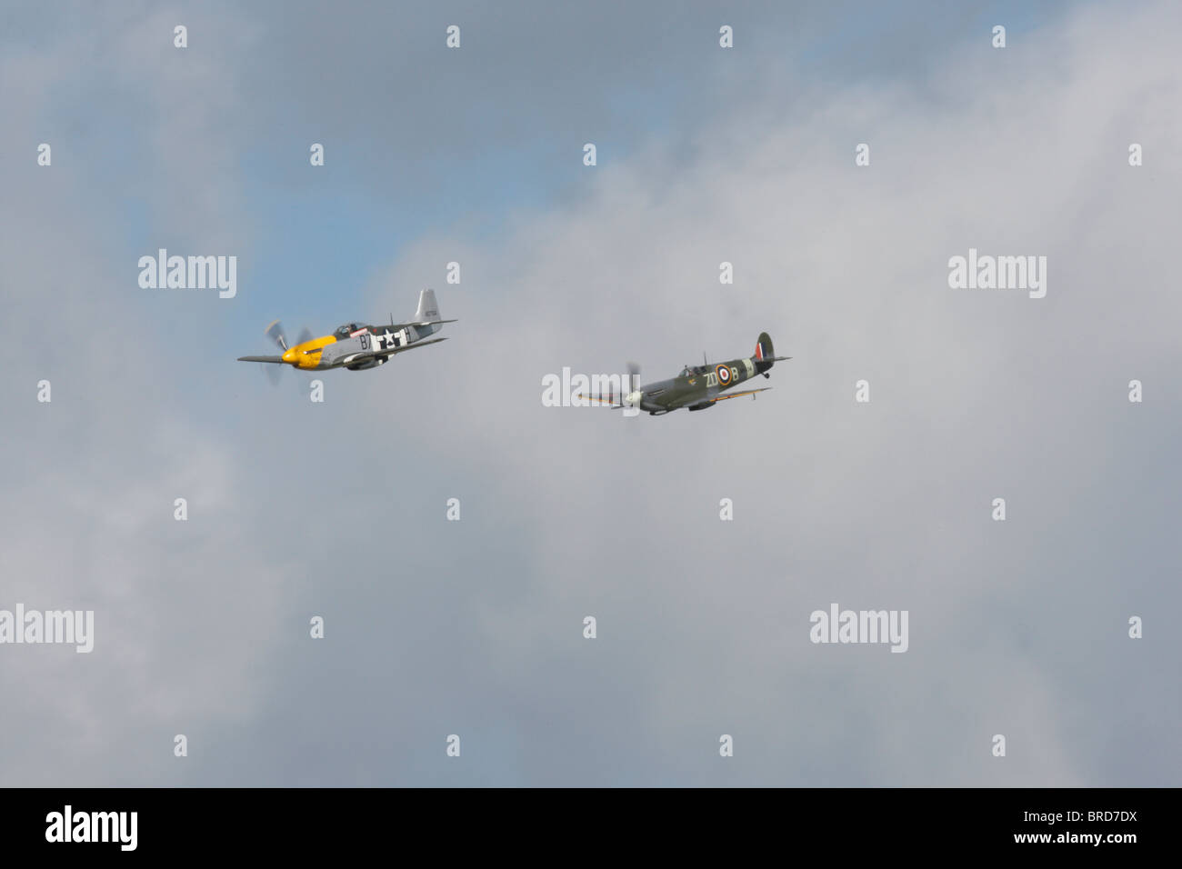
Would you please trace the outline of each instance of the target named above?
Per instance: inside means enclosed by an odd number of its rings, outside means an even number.
[[[628,393],[628,395],[616,396],[609,394],[602,396],[579,394],[579,397],[604,402],[611,407],[639,408],[641,410],[647,410],[649,416],[661,416],[677,408],[704,410],[727,398],[738,398],[742,395],[754,396],[755,393],[771,389],[771,387],[760,387],[759,389],[723,394],[730,387],[742,383],[748,377],[754,377],[758,374],[764,375],[764,377],[771,377],[772,375],[768,374],[768,370],[773,364],[791,358],[791,356],[775,356],[772,350],[772,339],[767,336],[767,332],[761,332],[759,339],[755,342],[755,354],[746,359],[720,362],[716,365],[686,365],[676,377],[649,383],[639,389],[636,388],[639,369],[636,365],[629,365],[629,374],[631,375],[631,383],[629,385],[632,391]]]

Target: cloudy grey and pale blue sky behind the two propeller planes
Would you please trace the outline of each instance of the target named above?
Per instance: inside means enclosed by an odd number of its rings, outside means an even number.
[[[0,6],[0,610],[95,614],[0,643],[0,785],[1182,783],[1182,9],[728,6]],[[424,287],[323,402],[236,361]]]

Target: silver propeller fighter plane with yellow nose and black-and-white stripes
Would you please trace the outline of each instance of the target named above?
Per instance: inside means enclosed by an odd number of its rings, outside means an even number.
[[[284,328],[275,320],[267,326],[266,335],[279,349],[282,356],[239,356],[239,362],[272,362],[282,365],[303,368],[309,371],[320,371],[329,368],[348,368],[350,371],[362,371],[377,368],[390,361],[395,354],[415,348],[437,344],[447,338],[427,336],[437,332],[442,324],[456,320],[440,319],[439,305],[435,303],[435,291],[423,290],[418,293],[418,310],[410,323],[395,323],[390,318],[388,325],[371,326],[364,323],[346,323],[332,335],[313,338],[309,330],[300,332],[299,341],[291,346]]]

